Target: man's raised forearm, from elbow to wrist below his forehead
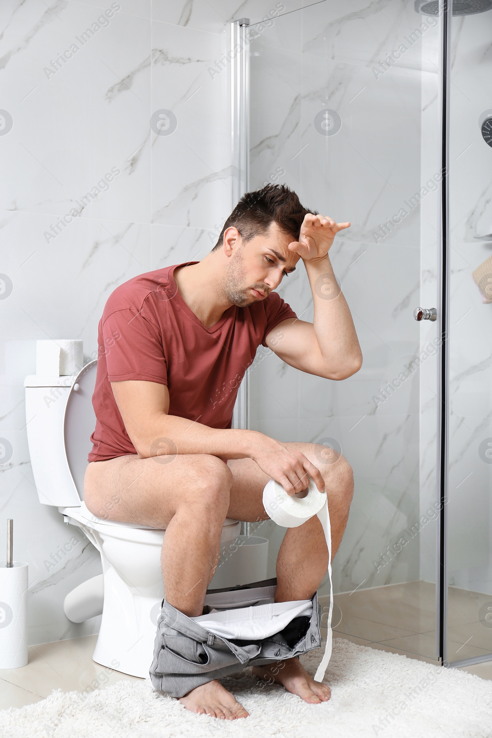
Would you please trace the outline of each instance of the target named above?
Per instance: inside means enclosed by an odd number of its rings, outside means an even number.
[[[330,259],[327,255],[322,259],[306,259],[304,263],[313,293],[313,327],[319,351],[330,370],[336,367],[342,378],[350,376],[361,366],[361,348]]]

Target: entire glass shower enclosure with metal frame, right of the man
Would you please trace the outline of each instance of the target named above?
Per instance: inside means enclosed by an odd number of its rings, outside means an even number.
[[[232,204],[283,182],[351,222],[330,258],[364,356],[332,382],[260,347],[235,427],[353,466],[334,635],[451,666],[492,658],[491,7],[299,1],[231,28]],[[305,270],[278,292],[313,319]],[[263,531],[274,576],[285,531]]]

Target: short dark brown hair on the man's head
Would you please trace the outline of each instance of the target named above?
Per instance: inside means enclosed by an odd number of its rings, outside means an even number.
[[[316,210],[307,210],[296,193],[285,184],[267,184],[261,190],[248,192],[240,199],[224,223],[221,235],[213,247],[216,251],[224,243],[224,232],[234,226],[238,229],[243,243],[251,241],[255,235],[268,231],[276,223],[281,231],[299,241],[299,232],[306,213],[317,215]]]

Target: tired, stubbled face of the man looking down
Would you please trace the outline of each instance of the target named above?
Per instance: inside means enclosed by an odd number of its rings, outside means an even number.
[[[288,250],[293,238],[271,223],[263,235],[235,244],[226,263],[222,289],[233,305],[246,307],[268,297],[285,275],[294,272],[299,256]]]

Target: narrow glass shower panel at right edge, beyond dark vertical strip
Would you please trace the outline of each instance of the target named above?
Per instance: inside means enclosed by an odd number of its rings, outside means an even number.
[[[468,664],[492,653],[492,10],[451,31],[446,661]]]

